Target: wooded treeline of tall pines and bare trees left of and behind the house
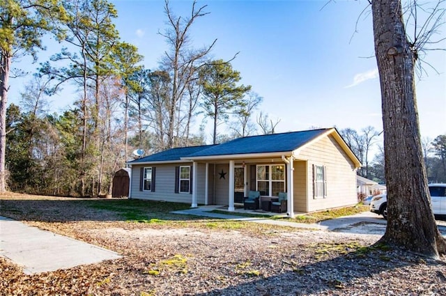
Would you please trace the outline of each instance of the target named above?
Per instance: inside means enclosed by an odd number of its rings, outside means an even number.
[[[213,143],[274,131],[277,122],[268,114],[254,123],[262,98],[251,86],[240,84],[232,59],[211,56],[216,40],[199,49],[190,42],[190,29],[208,14],[206,6],[193,2],[190,15],[178,17],[165,1],[164,13],[167,26],[160,35],[168,49],[157,68],[147,69],[137,47],[121,40],[114,24],[118,12],[109,1],[0,3],[5,135],[0,146],[6,147],[2,165],[10,190],[70,196],[108,193],[114,172],[132,159],[134,149],[148,155],[204,144],[203,118],[213,125]],[[59,40],[60,52],[40,61],[21,94],[20,107],[10,104],[6,111],[10,65],[18,56],[37,59],[45,34]],[[49,96],[66,84],[77,88],[72,108],[49,114]],[[222,127],[231,132],[221,133]]]

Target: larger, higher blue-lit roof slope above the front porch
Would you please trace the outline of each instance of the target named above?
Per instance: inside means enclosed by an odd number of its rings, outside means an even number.
[[[275,153],[293,151],[330,129],[306,130],[302,132],[285,132],[282,134],[265,134],[234,139],[220,145],[197,150],[189,157],[236,155],[254,153]]]

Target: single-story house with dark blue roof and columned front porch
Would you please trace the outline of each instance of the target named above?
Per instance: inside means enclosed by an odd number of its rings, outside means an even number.
[[[128,163],[130,198],[227,205],[249,191],[287,193],[287,214],[357,203],[361,166],[335,128],[243,137],[208,146],[171,148]]]

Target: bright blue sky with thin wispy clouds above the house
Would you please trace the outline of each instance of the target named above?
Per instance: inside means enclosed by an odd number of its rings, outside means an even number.
[[[156,68],[168,49],[157,34],[166,28],[164,1],[112,2],[121,38],[139,48],[146,68]],[[259,109],[281,120],[277,132],[332,126],[360,131],[368,125],[382,130],[371,15],[359,17],[368,2],[326,2],[198,1],[209,14],[194,23],[192,42],[199,48],[217,39],[215,59],[240,52],[233,69],[263,97]],[[182,17],[191,7],[191,1],[171,1],[171,10]],[[446,133],[446,53],[430,52],[426,61],[440,73],[428,69],[429,76],[417,81],[422,137],[433,139]],[[21,91],[11,82],[11,93]],[[52,109],[68,107],[67,97],[50,98]]]

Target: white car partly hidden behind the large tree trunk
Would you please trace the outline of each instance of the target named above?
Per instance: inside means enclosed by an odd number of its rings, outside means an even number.
[[[446,184],[429,184],[434,215],[446,215]],[[383,215],[387,219],[387,196],[378,194],[371,198],[370,212]]]

